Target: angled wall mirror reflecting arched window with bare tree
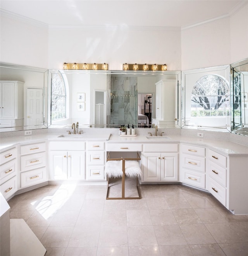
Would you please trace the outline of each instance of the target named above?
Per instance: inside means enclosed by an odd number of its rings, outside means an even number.
[[[182,71],[182,126],[231,131],[230,66]]]

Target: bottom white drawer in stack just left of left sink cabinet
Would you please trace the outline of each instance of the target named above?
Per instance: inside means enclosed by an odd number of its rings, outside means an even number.
[[[21,173],[21,188],[45,182],[46,176],[45,167]]]

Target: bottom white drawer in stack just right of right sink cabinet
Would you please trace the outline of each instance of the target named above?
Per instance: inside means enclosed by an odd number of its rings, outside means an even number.
[[[205,173],[198,173],[196,171],[190,171],[183,168],[180,181],[201,189],[205,189]]]

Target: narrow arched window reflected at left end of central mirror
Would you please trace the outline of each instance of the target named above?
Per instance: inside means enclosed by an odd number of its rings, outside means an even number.
[[[52,77],[52,121],[65,118],[66,91],[62,74],[53,74]]]

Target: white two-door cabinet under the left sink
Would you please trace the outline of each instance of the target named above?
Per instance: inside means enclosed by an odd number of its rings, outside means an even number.
[[[49,147],[50,180],[85,179],[85,142],[50,142]]]

